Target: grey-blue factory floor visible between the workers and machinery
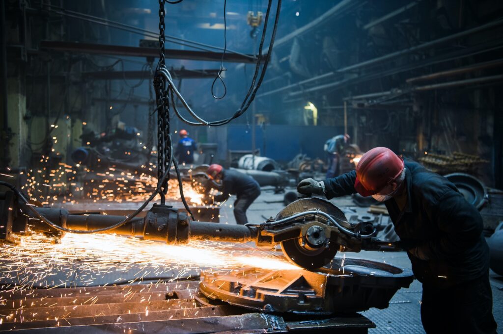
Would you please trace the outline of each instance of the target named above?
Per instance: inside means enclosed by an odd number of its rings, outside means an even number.
[[[286,189],[292,191],[295,189]],[[273,188],[265,187],[262,194],[251,204],[247,211],[248,221],[264,221],[264,218],[275,216],[284,205],[283,194],[275,194]],[[334,198],[331,200],[340,208],[355,206],[351,197]],[[229,203],[224,204],[220,209],[220,222],[235,224],[232,213],[232,197]],[[361,208],[358,208],[361,210]],[[410,268],[410,261],[405,252],[368,252],[347,253],[346,257],[365,258],[374,261],[383,261],[397,267]],[[503,332],[503,277],[490,272],[490,284],[493,297],[493,315],[498,324],[498,332]],[[372,308],[362,312],[363,315],[376,323],[376,328],[369,329],[369,333],[424,333],[421,324],[421,295],[422,284],[417,280],[408,289],[400,289],[391,299],[390,305],[386,309]]]

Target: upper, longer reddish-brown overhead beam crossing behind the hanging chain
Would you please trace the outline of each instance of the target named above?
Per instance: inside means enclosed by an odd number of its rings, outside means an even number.
[[[145,48],[145,47],[123,46],[123,45],[106,45],[106,44],[63,42],[63,41],[41,41],[40,49],[50,51],[61,51],[61,52],[115,55],[124,57],[152,57],[152,58],[159,57],[159,50],[156,48]],[[222,53],[210,52],[210,51],[166,49],[164,56],[165,58],[170,59],[219,62],[220,59],[222,58]],[[224,61],[231,63],[255,63],[257,59],[252,55],[226,53]]]

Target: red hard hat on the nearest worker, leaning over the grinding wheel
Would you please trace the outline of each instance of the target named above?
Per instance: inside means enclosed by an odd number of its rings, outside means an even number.
[[[376,147],[366,152],[356,167],[355,189],[362,196],[377,194],[400,176],[402,158],[388,148]]]

